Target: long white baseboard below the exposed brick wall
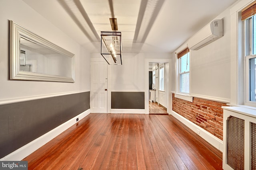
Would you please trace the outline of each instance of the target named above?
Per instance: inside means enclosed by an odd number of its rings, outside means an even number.
[[[202,127],[194,124],[193,122],[189,121],[185,117],[179,115],[175,111],[171,111],[171,115],[173,115],[176,119],[181,121],[184,125],[189,127],[192,131],[197,133],[197,131],[200,131],[200,134],[198,134],[200,137],[202,137],[204,140],[206,140],[208,143],[210,143],[212,146],[214,146],[216,149],[223,152],[223,141],[217,138],[216,136],[212,135],[208,131],[204,130]]]

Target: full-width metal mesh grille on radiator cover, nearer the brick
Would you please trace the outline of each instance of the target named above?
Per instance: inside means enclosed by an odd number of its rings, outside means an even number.
[[[227,163],[234,170],[244,169],[244,120],[230,116],[227,121]]]

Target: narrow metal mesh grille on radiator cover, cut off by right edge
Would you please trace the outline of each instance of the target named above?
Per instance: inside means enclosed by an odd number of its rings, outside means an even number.
[[[251,155],[252,155],[252,170],[256,169],[256,123],[251,123]]]

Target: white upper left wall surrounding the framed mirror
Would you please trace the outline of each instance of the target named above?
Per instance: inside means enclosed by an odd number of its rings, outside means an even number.
[[[75,83],[9,80],[9,20],[76,56]],[[90,54],[22,0],[0,1],[0,102],[90,90]]]

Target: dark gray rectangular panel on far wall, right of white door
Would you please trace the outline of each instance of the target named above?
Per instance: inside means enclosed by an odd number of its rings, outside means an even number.
[[[145,109],[144,92],[111,92],[111,109]]]

